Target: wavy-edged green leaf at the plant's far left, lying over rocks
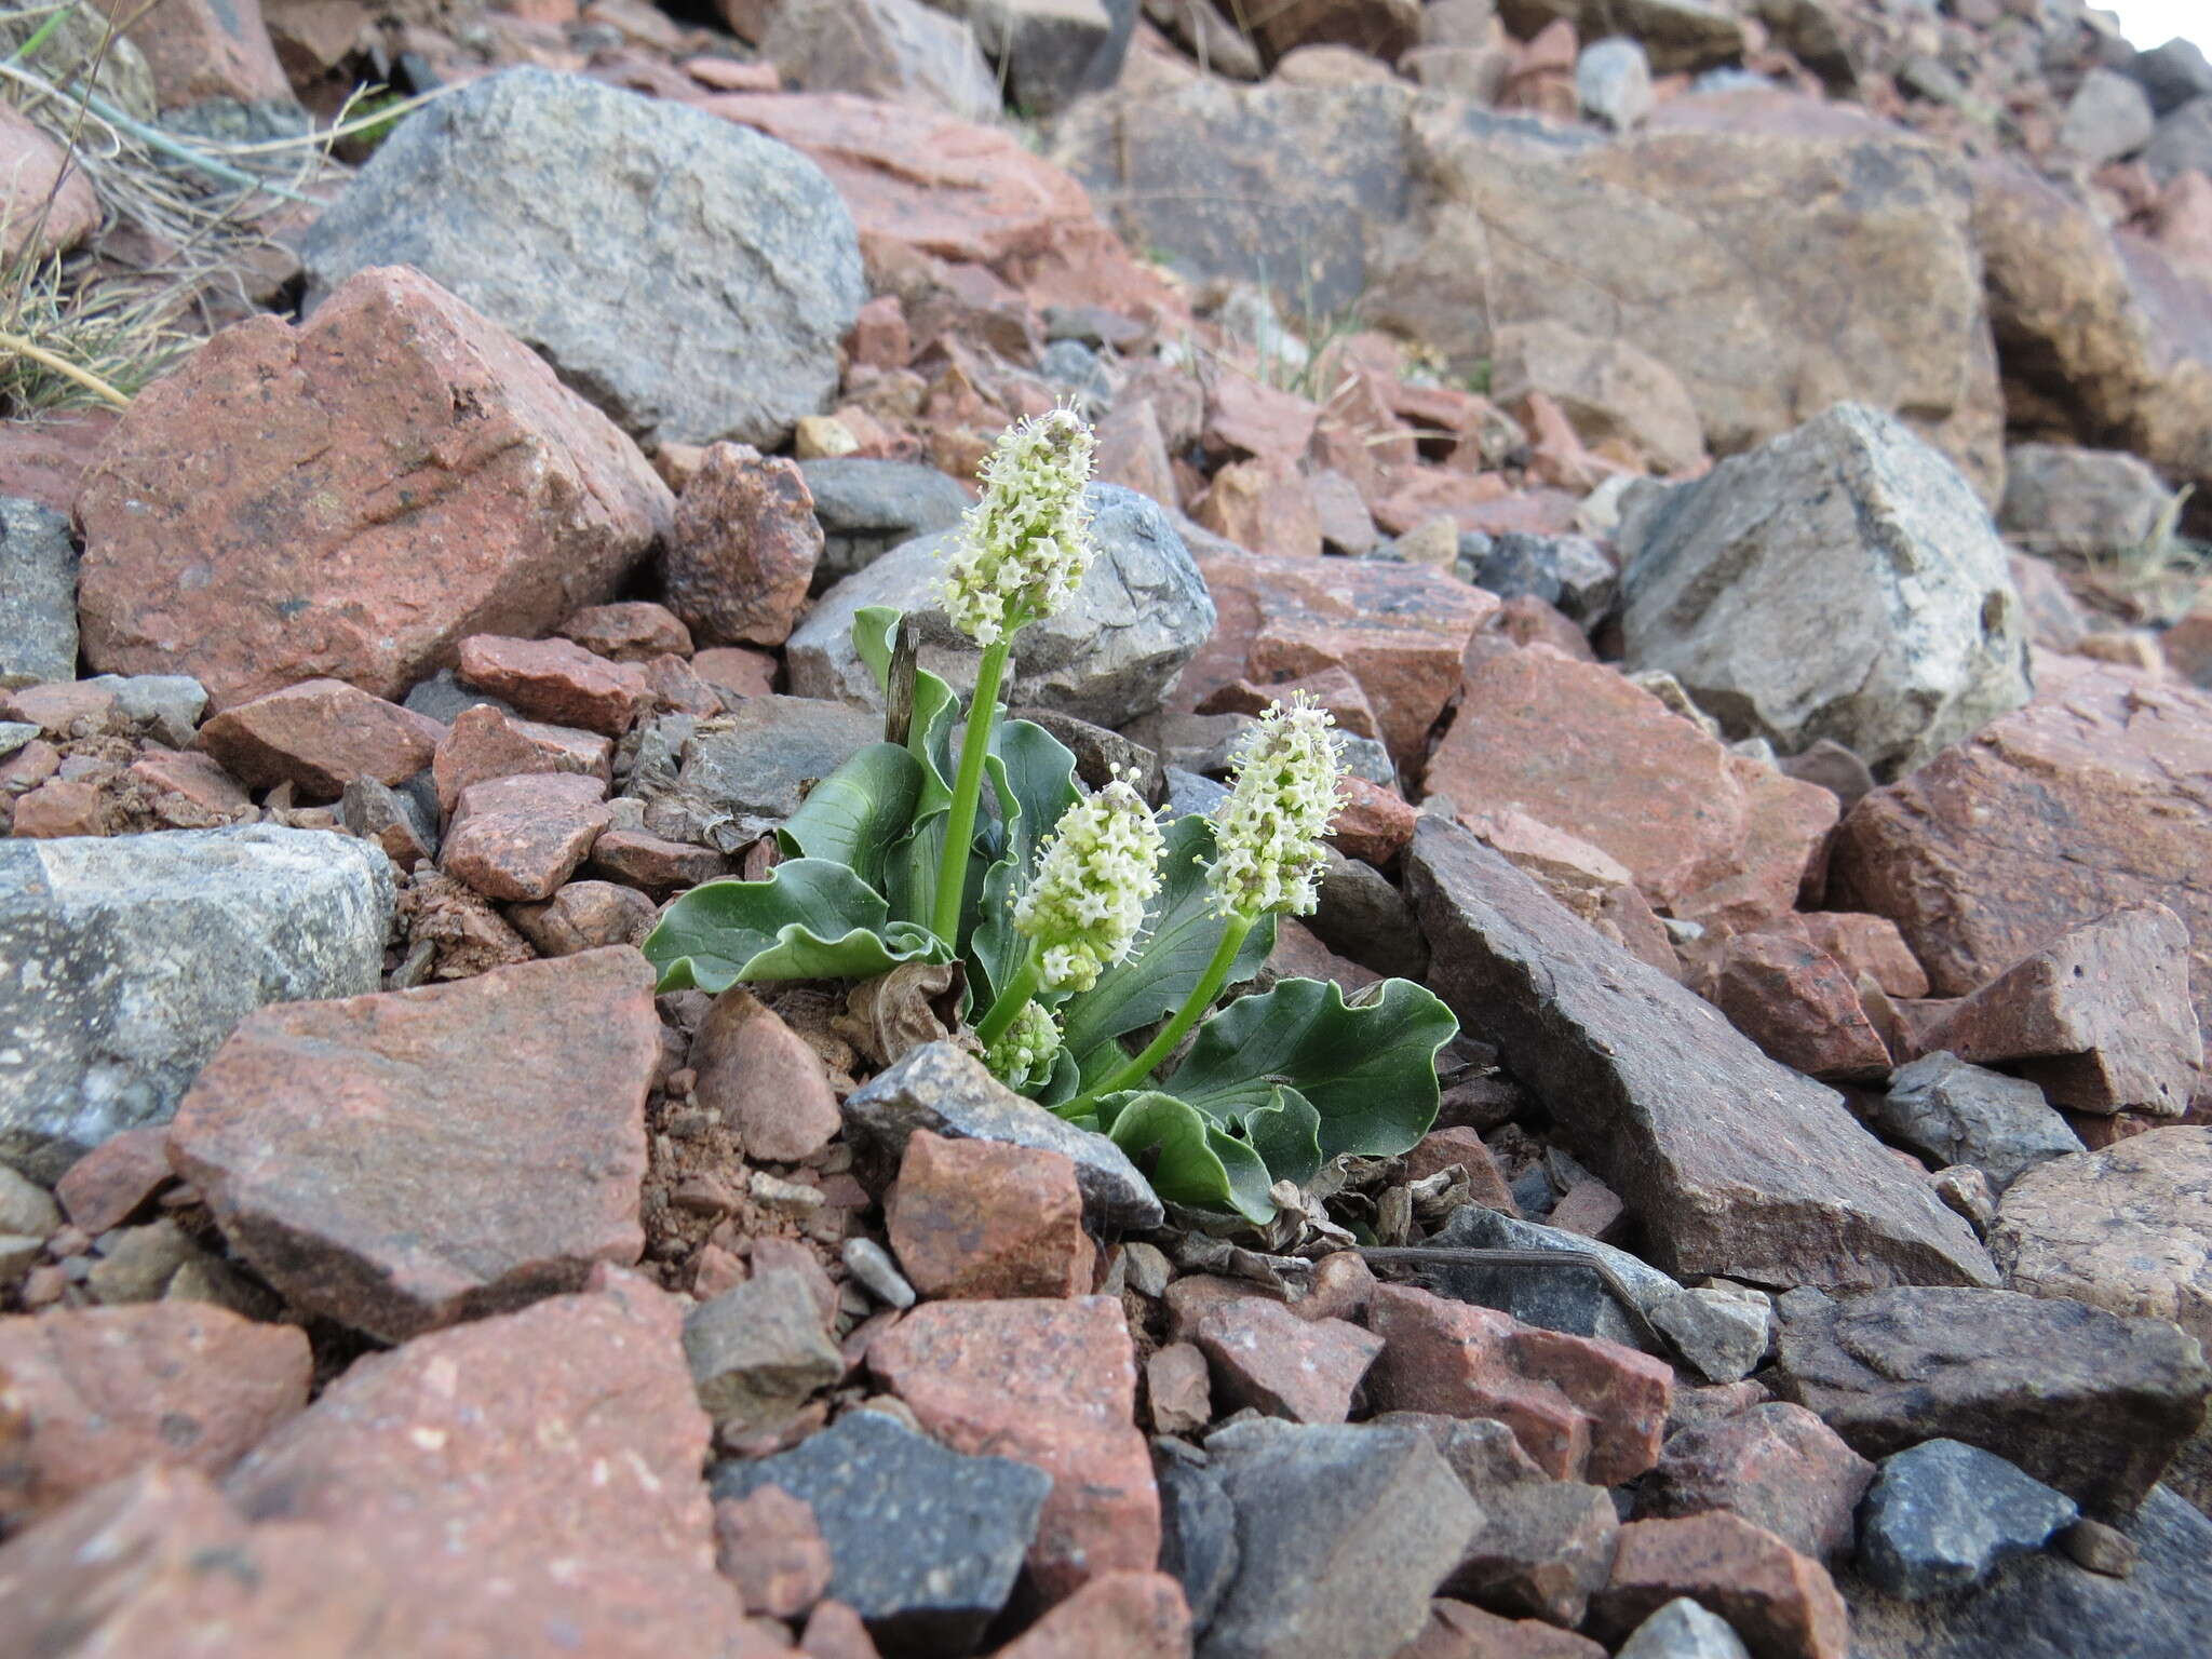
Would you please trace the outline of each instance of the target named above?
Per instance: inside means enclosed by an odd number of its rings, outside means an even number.
[[[867,980],[900,962],[942,962],[929,929],[894,922],[883,894],[845,865],[792,858],[768,880],[710,880],[646,938],[661,991],[739,980]]]

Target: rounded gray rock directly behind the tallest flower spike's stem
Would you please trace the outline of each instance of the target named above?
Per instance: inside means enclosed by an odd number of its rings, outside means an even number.
[[[1097,553],[1068,606],[1015,637],[1013,695],[1119,728],[1159,708],[1212,635],[1214,602],[1155,502],[1119,484],[1091,484],[1086,500]],[[821,597],[785,648],[794,692],[880,708],[876,679],[852,648],[852,617],[872,604],[916,619],[922,668],[973,688],[980,653],[929,597],[947,535],[907,542]]]

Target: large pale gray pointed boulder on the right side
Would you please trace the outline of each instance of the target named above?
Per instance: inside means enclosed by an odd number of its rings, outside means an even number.
[[[1893,416],[1836,405],[1672,491],[1621,577],[1628,668],[1730,737],[1829,737],[1902,774],[2028,701],[2026,617],[1973,489]]]

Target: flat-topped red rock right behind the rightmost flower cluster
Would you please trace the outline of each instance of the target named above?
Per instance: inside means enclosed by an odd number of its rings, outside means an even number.
[[[1177,679],[1172,708],[1194,710],[1232,679],[1343,668],[1400,765],[1420,765],[1467,641],[1498,611],[1495,595],[1411,564],[1217,553],[1199,571],[1221,619]]]

